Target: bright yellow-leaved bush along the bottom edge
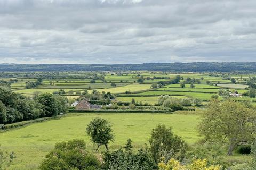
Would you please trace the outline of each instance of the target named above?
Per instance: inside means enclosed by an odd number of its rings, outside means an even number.
[[[221,170],[221,166],[212,165],[207,167],[206,159],[197,159],[190,165],[181,165],[178,160],[170,159],[164,163],[164,159],[158,164],[159,170]]]

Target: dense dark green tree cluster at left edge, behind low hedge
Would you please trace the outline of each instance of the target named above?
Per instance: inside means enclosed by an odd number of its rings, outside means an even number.
[[[66,97],[36,93],[33,98],[27,98],[8,88],[0,88],[0,124],[50,117],[67,111]]]

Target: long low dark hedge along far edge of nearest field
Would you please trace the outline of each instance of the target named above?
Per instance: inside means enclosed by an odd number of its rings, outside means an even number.
[[[69,109],[69,113],[172,113],[166,110],[75,110]]]

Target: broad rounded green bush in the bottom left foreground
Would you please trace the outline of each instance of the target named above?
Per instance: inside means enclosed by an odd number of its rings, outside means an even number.
[[[99,169],[99,160],[86,150],[84,140],[70,140],[56,143],[54,149],[46,155],[40,170],[93,170]]]

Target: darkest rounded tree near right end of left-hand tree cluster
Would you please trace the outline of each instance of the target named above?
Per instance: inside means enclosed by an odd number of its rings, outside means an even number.
[[[58,105],[52,94],[40,94],[37,98],[37,102],[43,105],[45,116],[51,117],[58,115]]]

